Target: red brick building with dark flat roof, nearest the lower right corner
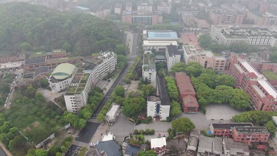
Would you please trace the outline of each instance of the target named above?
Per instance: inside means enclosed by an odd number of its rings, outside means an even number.
[[[267,142],[269,132],[265,127],[234,127],[232,137],[235,142],[251,145],[258,142]]]

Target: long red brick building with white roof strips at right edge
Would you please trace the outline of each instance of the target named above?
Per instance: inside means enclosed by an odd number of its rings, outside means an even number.
[[[236,84],[250,96],[251,105],[256,110],[277,110],[277,91],[265,76],[243,57],[235,54],[230,57],[228,74],[233,76]]]

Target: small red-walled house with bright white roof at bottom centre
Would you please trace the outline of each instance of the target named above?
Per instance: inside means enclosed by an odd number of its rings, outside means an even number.
[[[150,149],[155,152],[156,155],[165,155],[166,151],[166,138],[156,138],[150,140]]]

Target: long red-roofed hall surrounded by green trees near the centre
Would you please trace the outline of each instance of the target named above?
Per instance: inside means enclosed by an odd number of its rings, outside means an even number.
[[[195,98],[195,91],[191,84],[190,78],[184,72],[176,72],[175,79],[177,87],[180,91],[180,99],[183,103],[183,108],[185,113],[196,113],[198,111],[199,105]]]

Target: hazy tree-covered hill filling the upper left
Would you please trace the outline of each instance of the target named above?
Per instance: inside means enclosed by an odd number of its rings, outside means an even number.
[[[49,51],[75,54],[114,49],[121,42],[112,21],[89,14],[58,12],[27,3],[0,4],[0,51]]]

